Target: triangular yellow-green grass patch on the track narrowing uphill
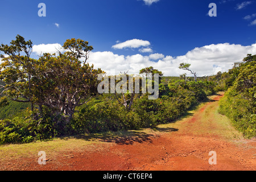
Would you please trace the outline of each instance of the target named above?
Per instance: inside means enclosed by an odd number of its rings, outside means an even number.
[[[212,100],[216,96],[209,96]],[[204,111],[200,111],[205,106]],[[232,122],[228,117],[218,113],[218,102],[213,101],[201,103],[195,110],[188,110],[181,119],[176,122],[168,123],[166,125],[159,125],[159,128],[178,129],[181,132],[186,132],[193,135],[202,136],[216,136],[222,139],[242,139],[242,133],[232,126]],[[195,122],[189,122],[190,119],[195,118]]]

